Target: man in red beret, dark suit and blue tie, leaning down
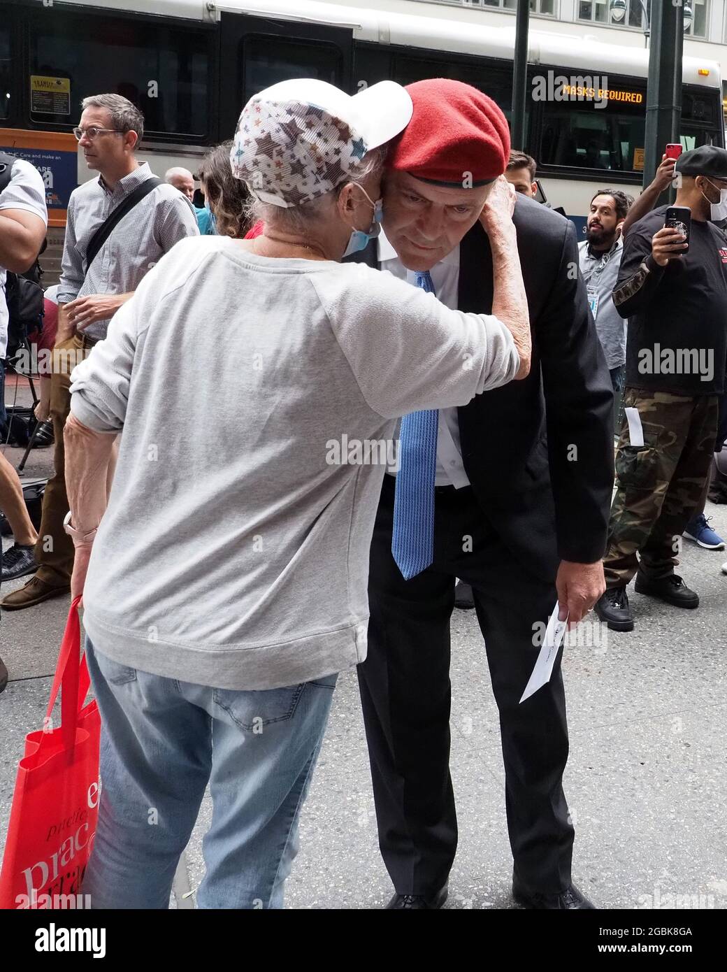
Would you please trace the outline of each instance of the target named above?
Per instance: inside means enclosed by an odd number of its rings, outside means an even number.
[[[571,883],[560,660],[546,685],[520,698],[556,601],[574,624],[605,590],[613,484],[606,361],[571,222],[522,195],[511,222],[484,218],[490,193],[503,191],[510,149],[500,109],[456,81],[407,90],[414,114],[387,156],[385,234],[359,257],[450,307],[487,313],[492,255],[515,245],[516,234],[533,366],[524,381],[463,408],[406,416],[396,478],[384,477],[359,680],[379,846],[397,892],[388,907],[440,908],[447,896],[457,848],[449,622],[460,577],[472,586],[500,711],[515,900],[593,908]]]

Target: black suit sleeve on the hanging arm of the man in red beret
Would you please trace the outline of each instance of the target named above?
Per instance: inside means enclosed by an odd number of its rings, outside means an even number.
[[[606,551],[613,488],[613,392],[569,223],[537,318],[558,555],[593,564]]]

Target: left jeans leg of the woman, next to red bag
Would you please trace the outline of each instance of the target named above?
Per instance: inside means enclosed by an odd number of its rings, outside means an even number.
[[[102,790],[83,893],[94,909],[165,909],[210,773],[212,720],[184,683],[120,665],[88,639],[86,653]]]

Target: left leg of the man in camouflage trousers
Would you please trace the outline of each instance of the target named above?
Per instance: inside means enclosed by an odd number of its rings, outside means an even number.
[[[604,573],[607,587],[628,584],[661,513],[689,429],[692,400],[627,388],[624,406],[637,408],[643,445],[632,445],[624,421],[616,453],[616,495],[608,521]]]

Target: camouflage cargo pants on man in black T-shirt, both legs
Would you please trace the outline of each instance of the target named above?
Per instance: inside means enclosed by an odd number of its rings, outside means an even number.
[[[716,396],[627,388],[624,407],[639,409],[643,445],[631,445],[624,419],[604,561],[608,587],[628,584],[638,570],[653,579],[674,573],[682,531],[701,502],[717,429]]]

